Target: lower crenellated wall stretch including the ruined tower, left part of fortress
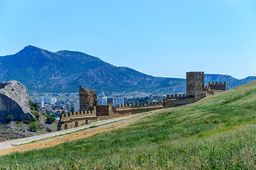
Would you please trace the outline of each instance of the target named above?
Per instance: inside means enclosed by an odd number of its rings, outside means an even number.
[[[133,103],[119,105],[118,108],[114,108],[111,103],[106,106],[98,106],[95,91],[82,89],[82,86],[79,86],[79,95],[80,111],[61,114],[57,130],[75,128],[95,120],[117,118],[163,108],[162,102]]]

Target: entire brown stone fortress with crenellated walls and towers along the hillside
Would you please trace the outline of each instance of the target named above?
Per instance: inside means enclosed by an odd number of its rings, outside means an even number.
[[[79,86],[80,111],[61,114],[57,130],[75,128],[95,120],[182,106],[223,91],[226,91],[226,82],[209,82],[208,86],[205,86],[204,72],[187,72],[186,94],[167,95],[163,101],[125,104],[115,108],[112,103],[98,106],[95,90],[82,89],[82,86]]]

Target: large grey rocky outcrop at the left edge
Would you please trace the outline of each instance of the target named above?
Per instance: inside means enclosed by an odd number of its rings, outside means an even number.
[[[7,115],[13,115],[14,120],[33,117],[28,89],[18,81],[4,81],[0,84],[0,120],[6,120]]]

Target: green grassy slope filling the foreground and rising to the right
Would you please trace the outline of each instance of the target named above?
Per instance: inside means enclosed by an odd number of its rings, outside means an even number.
[[[0,157],[0,169],[256,169],[256,81],[85,140]]]

